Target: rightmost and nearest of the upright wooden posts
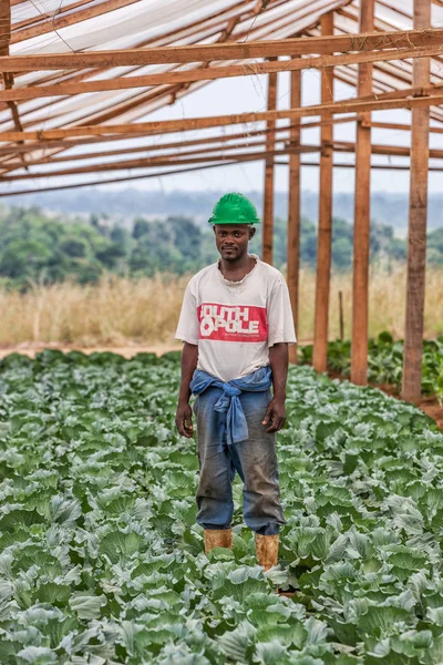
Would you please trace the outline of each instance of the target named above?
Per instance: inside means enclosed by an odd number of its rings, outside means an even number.
[[[431,0],[414,0],[414,27],[431,24]],[[414,60],[414,85],[430,84],[429,59]],[[404,335],[402,398],[421,397],[424,290],[426,273],[427,167],[430,109],[412,111],[411,184],[408,236],[406,320]]]

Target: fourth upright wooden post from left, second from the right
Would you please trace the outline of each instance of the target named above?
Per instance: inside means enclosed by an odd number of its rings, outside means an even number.
[[[374,0],[360,1],[360,30],[373,30]],[[372,64],[359,64],[357,94],[372,93]],[[353,288],[351,381],[368,382],[369,258],[371,226],[371,116],[357,123],[356,198],[353,225]],[[368,123],[368,124],[365,124]]]

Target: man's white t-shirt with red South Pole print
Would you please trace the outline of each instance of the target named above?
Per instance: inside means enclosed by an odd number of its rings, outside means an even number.
[[[219,262],[188,283],[176,339],[198,345],[198,369],[223,381],[269,365],[269,347],[293,344],[288,287],[279,270],[256,259],[240,282],[225,279]]]

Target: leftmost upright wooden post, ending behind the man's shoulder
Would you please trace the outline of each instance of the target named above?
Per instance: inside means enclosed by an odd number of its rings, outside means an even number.
[[[274,59],[275,60],[275,59]],[[268,111],[277,108],[277,73],[268,74]],[[274,120],[268,120],[267,127],[270,130],[266,136],[266,151],[275,150],[276,136],[272,131],[276,126]],[[274,155],[267,155],[265,160],[265,191],[264,191],[264,223],[261,236],[261,258],[272,265],[274,244]]]

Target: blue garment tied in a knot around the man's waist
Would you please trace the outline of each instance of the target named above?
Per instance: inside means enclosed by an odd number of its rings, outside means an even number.
[[[267,366],[231,381],[222,381],[202,369],[196,369],[189,388],[193,395],[200,395],[209,386],[222,389],[223,392],[214,408],[220,413],[226,413],[227,443],[231,446],[246,441],[249,436],[245,411],[239,399],[241,391],[262,392],[268,390],[270,385],[271,370]]]

